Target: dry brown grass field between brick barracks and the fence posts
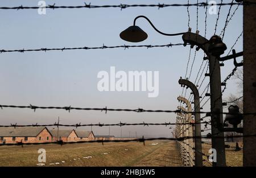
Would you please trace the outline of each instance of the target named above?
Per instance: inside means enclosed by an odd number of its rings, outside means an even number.
[[[46,166],[182,165],[176,143],[160,140],[147,141],[145,146],[140,142],[1,146],[0,165],[37,166],[40,148],[46,150]]]

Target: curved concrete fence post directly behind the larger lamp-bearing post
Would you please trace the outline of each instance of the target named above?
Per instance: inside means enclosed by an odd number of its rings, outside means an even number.
[[[196,86],[188,80],[180,79],[179,84],[188,86],[194,95],[195,105],[195,155],[196,155],[196,166],[203,166],[203,154],[202,154],[202,143],[201,143],[201,116],[200,116],[200,96]]]

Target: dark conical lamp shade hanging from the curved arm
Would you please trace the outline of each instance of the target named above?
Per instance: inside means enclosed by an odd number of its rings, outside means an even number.
[[[127,42],[142,42],[147,39],[147,34],[138,26],[130,26],[120,33],[120,38]]]

